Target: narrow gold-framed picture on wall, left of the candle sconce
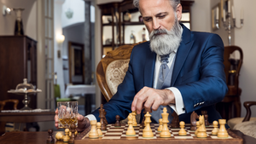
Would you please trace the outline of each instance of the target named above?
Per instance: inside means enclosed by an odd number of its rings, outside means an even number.
[[[212,8],[212,30],[216,31],[218,30],[220,26],[220,3],[218,3],[215,7]],[[218,25],[216,25],[218,22]]]

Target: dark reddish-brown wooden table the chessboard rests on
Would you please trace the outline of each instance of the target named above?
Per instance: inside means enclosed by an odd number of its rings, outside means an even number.
[[[243,139],[243,144],[252,144],[255,143],[256,139],[248,136],[248,135],[243,135],[240,131],[238,130],[231,130],[234,132],[236,135],[240,136]],[[53,133],[53,135],[56,134],[56,131]],[[46,140],[48,137],[48,132],[46,131],[40,131],[40,132],[25,132],[25,131],[14,131],[14,132],[9,132],[6,133],[2,136],[0,136],[0,143],[1,144],[11,144],[11,143],[19,143],[19,144],[46,144]],[[55,137],[55,136],[54,136]],[[97,143],[96,140],[91,140],[95,144]],[[75,140],[75,144],[78,143],[79,140]],[[106,143],[106,141],[98,141],[98,142],[103,142]],[[115,141],[109,141],[108,143],[115,144]],[[126,143],[129,141],[125,141]],[[145,140],[145,141],[131,141],[132,143],[152,143],[154,141],[151,140]],[[170,141],[171,142],[171,141]],[[158,142],[160,143],[160,142]],[[166,143],[166,141],[165,141]],[[186,143],[186,140],[183,141],[183,143]],[[62,142],[62,141],[55,141],[55,144],[68,144],[67,142]],[[119,144],[119,143],[118,143]]]

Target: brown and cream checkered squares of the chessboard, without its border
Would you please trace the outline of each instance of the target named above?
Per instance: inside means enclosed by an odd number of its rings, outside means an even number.
[[[143,126],[141,124],[137,124],[137,127],[133,127],[136,132],[136,135],[125,135],[126,131],[128,129],[128,124],[122,125],[120,127],[115,127],[114,124],[108,124],[107,130],[102,130],[103,135],[99,139],[102,139],[102,140],[162,139],[162,138],[160,138],[160,132],[157,131],[159,124],[150,124],[150,127],[154,134],[154,137],[144,138],[143,137]],[[218,138],[217,135],[212,135],[212,130],[213,130],[212,125],[206,127],[206,129],[207,129],[207,138],[206,139],[232,139],[233,138],[230,135],[227,138]],[[200,138],[196,137],[195,131],[190,130],[189,124],[186,124],[186,126],[185,126],[187,135],[178,135],[178,131],[180,129],[171,129],[170,125],[169,125],[169,130],[171,133],[171,137],[167,138],[167,139],[200,139]],[[89,138],[89,133],[87,135],[85,135],[83,139],[88,139],[88,138]]]

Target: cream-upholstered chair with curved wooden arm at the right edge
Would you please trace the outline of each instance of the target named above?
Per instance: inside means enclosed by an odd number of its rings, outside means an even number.
[[[231,118],[228,125],[232,130],[240,130],[245,135],[256,138],[256,118],[251,118],[251,106],[256,105],[256,101],[245,101],[243,106],[247,110],[245,118]]]

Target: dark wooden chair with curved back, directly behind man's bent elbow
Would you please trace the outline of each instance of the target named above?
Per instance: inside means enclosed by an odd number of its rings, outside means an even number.
[[[235,51],[238,52],[240,59],[233,61],[238,61],[237,64],[232,65],[232,59],[230,55]],[[237,54],[237,53],[236,53]],[[241,88],[239,88],[239,74],[241,70],[241,64],[243,60],[243,53],[241,48],[237,46],[226,46],[224,47],[224,72],[226,74],[226,82],[229,91],[224,97],[224,100],[220,103],[223,104],[222,110],[218,111],[221,113],[222,117],[225,119],[241,117]],[[235,107],[234,111],[233,106]],[[226,111],[225,111],[225,110]],[[227,114],[228,113],[228,114]]]

